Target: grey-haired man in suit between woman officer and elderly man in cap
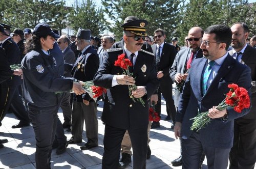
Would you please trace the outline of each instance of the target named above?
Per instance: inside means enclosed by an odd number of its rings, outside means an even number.
[[[76,57],[73,50],[69,47],[69,44],[70,44],[69,37],[67,37],[66,35],[62,35],[57,40],[57,43],[60,50],[62,50],[65,63],[73,65],[76,61]],[[64,71],[64,76],[72,77],[71,72],[67,70]],[[64,116],[64,123],[62,125],[63,125],[63,128],[68,128],[68,129],[70,128],[70,125],[71,125],[71,113],[72,113],[70,96],[71,96],[70,93],[65,93],[60,104],[60,107],[63,111],[63,116]]]

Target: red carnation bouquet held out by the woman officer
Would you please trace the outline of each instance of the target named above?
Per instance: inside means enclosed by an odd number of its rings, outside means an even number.
[[[93,80],[80,82],[82,88],[90,95],[90,97],[96,102],[97,98],[100,97],[103,93],[106,93],[105,88],[94,86]],[[63,93],[63,92],[55,92],[55,94]],[[69,93],[73,93],[72,90]]]

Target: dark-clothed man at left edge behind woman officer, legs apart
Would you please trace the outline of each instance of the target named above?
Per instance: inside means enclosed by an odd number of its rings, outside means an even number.
[[[1,29],[1,44],[5,50],[6,57],[8,58],[9,65],[20,64],[20,51],[17,44],[9,37],[8,34],[4,32],[4,26],[0,25]],[[20,128],[29,126],[29,117],[25,106],[23,104],[22,98],[18,93],[18,86],[21,84],[21,78],[18,75],[12,75],[11,78],[7,79],[3,83],[3,88],[1,90],[7,93],[3,94],[3,98],[7,100],[5,109],[1,112],[0,123],[6,115],[9,107],[12,107],[13,113],[19,120],[18,124],[12,125],[12,128]]]

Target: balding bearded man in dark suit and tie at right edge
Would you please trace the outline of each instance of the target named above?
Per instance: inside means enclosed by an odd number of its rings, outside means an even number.
[[[238,62],[251,69],[251,104],[248,115],[234,120],[233,147],[229,154],[229,168],[254,168],[256,162],[256,49],[246,43],[249,28],[243,22],[234,23],[232,31],[232,50],[229,54]]]

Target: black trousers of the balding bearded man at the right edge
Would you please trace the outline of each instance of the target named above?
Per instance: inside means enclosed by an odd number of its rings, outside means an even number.
[[[234,142],[229,168],[253,169],[256,162],[256,119],[234,120]]]

